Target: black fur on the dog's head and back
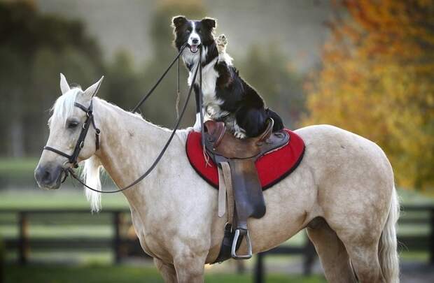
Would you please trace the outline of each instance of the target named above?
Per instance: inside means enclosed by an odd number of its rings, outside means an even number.
[[[216,20],[204,18],[200,21],[191,21],[184,16],[178,16],[172,19],[172,24],[175,35],[174,45],[178,50],[181,50],[184,43],[188,41],[190,34],[193,32],[193,27],[195,27],[197,35],[200,36],[200,44],[203,48],[207,48],[202,67],[218,57],[218,49],[214,39]],[[190,50],[186,48],[184,52],[191,52]],[[199,53],[197,52],[197,56],[199,56]],[[184,61],[188,70],[193,71],[193,63],[186,61],[185,58]],[[262,97],[239,76],[239,72],[234,66],[228,66],[225,61],[218,61],[214,68],[218,72],[215,89],[216,100],[223,101],[220,105],[222,111],[235,115],[237,125],[244,130],[247,137],[258,136],[265,131],[269,117],[274,119],[273,131],[283,129],[281,117],[269,108],[265,108]],[[194,87],[196,101],[198,101],[199,86],[195,84]],[[197,105],[197,113],[199,113],[200,108]]]

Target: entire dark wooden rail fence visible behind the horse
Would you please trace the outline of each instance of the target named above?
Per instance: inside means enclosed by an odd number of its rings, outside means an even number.
[[[412,205],[405,206],[402,209],[405,214],[402,214],[399,224],[401,226],[423,225],[429,227],[427,235],[418,233],[406,233],[405,235],[398,234],[398,241],[411,251],[428,251],[430,263],[434,264],[434,205]],[[3,215],[14,215],[11,221]],[[79,215],[79,221],[71,218],[71,215]],[[130,210],[128,209],[109,209],[99,212],[95,217],[90,215],[87,209],[43,209],[43,210],[8,210],[0,209],[0,226],[2,225],[18,225],[18,237],[6,238],[5,245],[7,250],[18,251],[18,261],[20,264],[26,264],[29,261],[29,256],[32,250],[102,250],[111,249],[113,259],[119,263],[126,256],[131,254],[143,255],[139,240],[137,238],[125,238],[123,229],[130,226]],[[128,218],[128,219],[127,219]],[[48,223],[48,224],[78,224],[85,226],[111,226],[113,231],[111,237],[85,237],[85,236],[69,236],[68,238],[31,238],[29,228],[32,222]],[[125,230],[125,229],[124,229]],[[310,273],[311,265],[316,258],[316,252],[307,240],[306,245],[302,247],[294,247],[281,245],[267,252],[262,252],[256,257],[255,263],[255,282],[263,282],[265,276],[264,259],[265,256],[275,254],[301,254],[304,257],[304,273]]]

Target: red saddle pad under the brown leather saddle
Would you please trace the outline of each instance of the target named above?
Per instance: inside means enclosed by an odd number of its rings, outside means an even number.
[[[262,190],[272,187],[297,168],[304,154],[302,138],[293,131],[285,129],[289,133],[289,142],[279,150],[269,152],[260,157],[256,163]],[[210,160],[211,166],[206,166],[200,133],[191,131],[188,134],[186,151],[188,161],[205,181],[218,189],[218,170],[214,161]]]

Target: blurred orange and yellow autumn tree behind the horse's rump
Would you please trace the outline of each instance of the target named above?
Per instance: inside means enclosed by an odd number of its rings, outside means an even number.
[[[339,2],[304,124],[378,143],[404,187],[434,185],[434,2]],[[341,14],[341,15],[339,15]]]

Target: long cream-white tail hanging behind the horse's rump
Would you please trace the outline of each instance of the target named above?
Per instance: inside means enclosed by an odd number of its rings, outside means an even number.
[[[396,189],[393,187],[391,206],[388,211],[386,225],[378,244],[378,257],[386,283],[399,282],[399,259],[395,224],[398,221],[400,205]]]

